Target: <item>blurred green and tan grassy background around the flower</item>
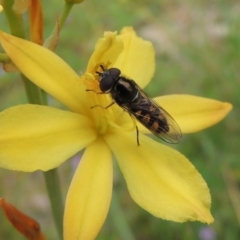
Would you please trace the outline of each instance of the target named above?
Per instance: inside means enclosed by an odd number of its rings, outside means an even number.
[[[62,0],[43,0],[45,38],[63,4]],[[27,21],[26,15],[26,25]],[[84,72],[103,32],[120,31],[124,26],[134,27],[138,35],[154,44],[156,72],[145,89],[150,96],[187,93],[234,105],[229,116],[216,126],[186,135],[180,144],[172,146],[195,165],[208,183],[215,222],[209,226],[198,222],[180,224],[153,217],[132,201],[116,167],[114,187],[130,228],[139,240],[240,239],[240,2],[85,0],[73,8],[61,30],[56,53],[76,72]],[[0,28],[9,32],[4,14],[0,14]],[[0,110],[27,102],[18,74],[0,70],[0,77]],[[74,161],[65,162],[59,169],[64,196]],[[41,172],[0,169],[0,197],[37,219],[48,239],[57,239]],[[25,239],[13,230],[2,211],[0,223],[0,240]],[[122,239],[111,214],[97,239]]]

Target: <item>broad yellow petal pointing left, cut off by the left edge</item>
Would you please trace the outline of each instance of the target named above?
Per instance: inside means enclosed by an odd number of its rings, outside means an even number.
[[[0,126],[0,167],[11,170],[55,168],[96,138],[86,117],[47,106],[9,108]]]

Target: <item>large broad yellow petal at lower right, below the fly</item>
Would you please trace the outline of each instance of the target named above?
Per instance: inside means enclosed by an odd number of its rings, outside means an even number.
[[[194,166],[176,150],[139,137],[140,146],[134,134],[105,137],[134,201],[163,219],[213,222],[209,189]]]

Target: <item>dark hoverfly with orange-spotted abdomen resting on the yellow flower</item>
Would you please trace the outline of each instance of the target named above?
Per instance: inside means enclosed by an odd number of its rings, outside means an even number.
[[[104,69],[99,75],[99,87],[103,94],[111,94],[115,102],[131,116],[134,116],[153,134],[168,143],[178,143],[182,137],[181,130],[174,119],[157,103],[143,92],[131,79],[121,76],[118,68]],[[94,106],[95,107],[95,106]],[[138,128],[137,144],[139,145]]]

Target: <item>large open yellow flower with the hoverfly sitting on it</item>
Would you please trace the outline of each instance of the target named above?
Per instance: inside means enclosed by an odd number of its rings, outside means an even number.
[[[43,171],[59,166],[85,149],[68,191],[64,239],[94,239],[111,201],[114,157],[133,200],[156,217],[177,222],[211,223],[209,189],[194,166],[178,151],[153,141],[140,128],[140,146],[129,114],[98,89],[99,65],[117,67],[140,87],[154,73],[152,45],[131,28],[106,32],[96,44],[86,73],[79,76],[57,55],[34,43],[1,33],[8,56],[31,81],[61,101],[69,111],[20,105],[0,114],[0,167]],[[209,127],[232,106],[189,95],[155,99],[183,133]],[[139,126],[140,127],[140,126]]]

